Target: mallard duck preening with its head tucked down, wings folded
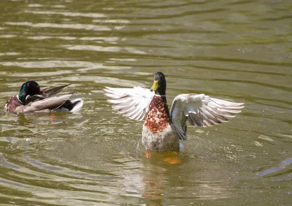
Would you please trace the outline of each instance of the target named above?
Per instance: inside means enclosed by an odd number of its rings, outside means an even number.
[[[83,106],[83,100],[69,98],[75,93],[53,96],[69,86],[39,88],[35,81],[27,81],[22,84],[19,94],[7,100],[4,108],[10,112],[54,112],[54,111],[79,111]]]

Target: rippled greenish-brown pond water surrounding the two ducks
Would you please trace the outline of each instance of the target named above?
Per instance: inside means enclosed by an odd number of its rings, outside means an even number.
[[[0,110],[0,204],[288,206],[292,199],[292,2],[4,0],[0,104],[23,82],[73,83],[76,114]],[[180,163],[146,158],[142,122],[103,86],[244,102],[221,126],[188,127]],[[53,120],[52,120],[53,118]]]

